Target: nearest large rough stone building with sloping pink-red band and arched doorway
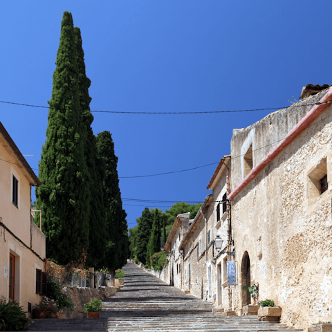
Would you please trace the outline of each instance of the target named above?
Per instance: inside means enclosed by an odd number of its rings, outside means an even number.
[[[235,306],[256,284],[282,322],[302,327],[332,320],[332,88],[315,93],[231,142]]]

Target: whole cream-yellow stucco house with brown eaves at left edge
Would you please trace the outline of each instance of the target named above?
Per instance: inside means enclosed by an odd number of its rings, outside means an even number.
[[[0,297],[30,312],[45,282],[46,239],[31,218],[31,186],[40,182],[1,122],[0,159]]]

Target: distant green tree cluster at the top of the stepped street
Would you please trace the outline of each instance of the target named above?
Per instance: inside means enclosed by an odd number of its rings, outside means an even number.
[[[149,257],[160,251],[160,237],[165,244],[172,225],[178,214],[190,212],[190,219],[194,219],[201,208],[201,203],[176,203],[169,210],[162,212],[158,208],[145,208],[142,215],[136,219],[138,225],[129,228],[130,258],[149,264]]]

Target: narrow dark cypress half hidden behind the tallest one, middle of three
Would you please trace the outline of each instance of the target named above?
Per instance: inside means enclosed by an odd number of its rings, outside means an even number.
[[[79,70],[80,107],[86,130],[86,143],[84,145],[84,156],[89,169],[89,192],[91,193],[89,214],[89,247],[86,263],[95,268],[106,266],[105,248],[107,245],[106,208],[103,197],[103,181],[106,172],[104,160],[98,156],[97,140],[93,135],[91,124],[93,115],[90,111],[91,97],[89,87],[91,80],[86,77],[84,64],[84,51],[82,48],[82,37],[80,28],[75,27],[77,64]]]

